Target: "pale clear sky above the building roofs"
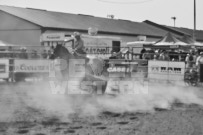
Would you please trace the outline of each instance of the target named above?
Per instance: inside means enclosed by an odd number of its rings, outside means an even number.
[[[194,0],[0,0],[0,5],[194,28]],[[203,0],[196,0],[196,29],[203,30]]]

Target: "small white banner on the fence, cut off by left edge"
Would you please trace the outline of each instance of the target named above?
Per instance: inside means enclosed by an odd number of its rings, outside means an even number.
[[[9,78],[9,60],[0,59],[0,78]]]

